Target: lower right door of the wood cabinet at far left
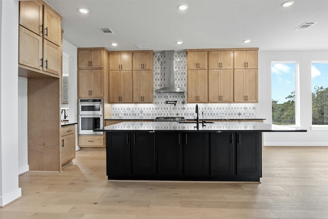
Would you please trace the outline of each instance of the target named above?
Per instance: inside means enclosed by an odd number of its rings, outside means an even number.
[[[43,42],[43,70],[59,75],[61,59],[60,48],[46,39],[44,39]]]

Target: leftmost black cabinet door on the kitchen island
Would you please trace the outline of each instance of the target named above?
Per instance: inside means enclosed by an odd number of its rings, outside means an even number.
[[[130,175],[130,133],[106,133],[107,175]]]

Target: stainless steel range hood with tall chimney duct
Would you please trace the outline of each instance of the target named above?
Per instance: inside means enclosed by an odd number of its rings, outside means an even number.
[[[165,51],[165,87],[155,90],[155,93],[183,93],[185,90],[174,84],[174,50]]]

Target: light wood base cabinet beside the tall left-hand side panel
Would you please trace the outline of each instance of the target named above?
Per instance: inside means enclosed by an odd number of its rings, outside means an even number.
[[[75,158],[75,125],[62,126],[61,136],[61,165]]]

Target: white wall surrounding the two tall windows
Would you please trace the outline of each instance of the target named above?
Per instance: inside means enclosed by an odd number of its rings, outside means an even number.
[[[328,146],[327,130],[312,130],[311,62],[327,61],[328,50],[316,51],[259,51],[259,102],[256,116],[272,123],[271,62],[297,61],[300,81],[300,126],[307,132],[264,133],[265,146]]]

